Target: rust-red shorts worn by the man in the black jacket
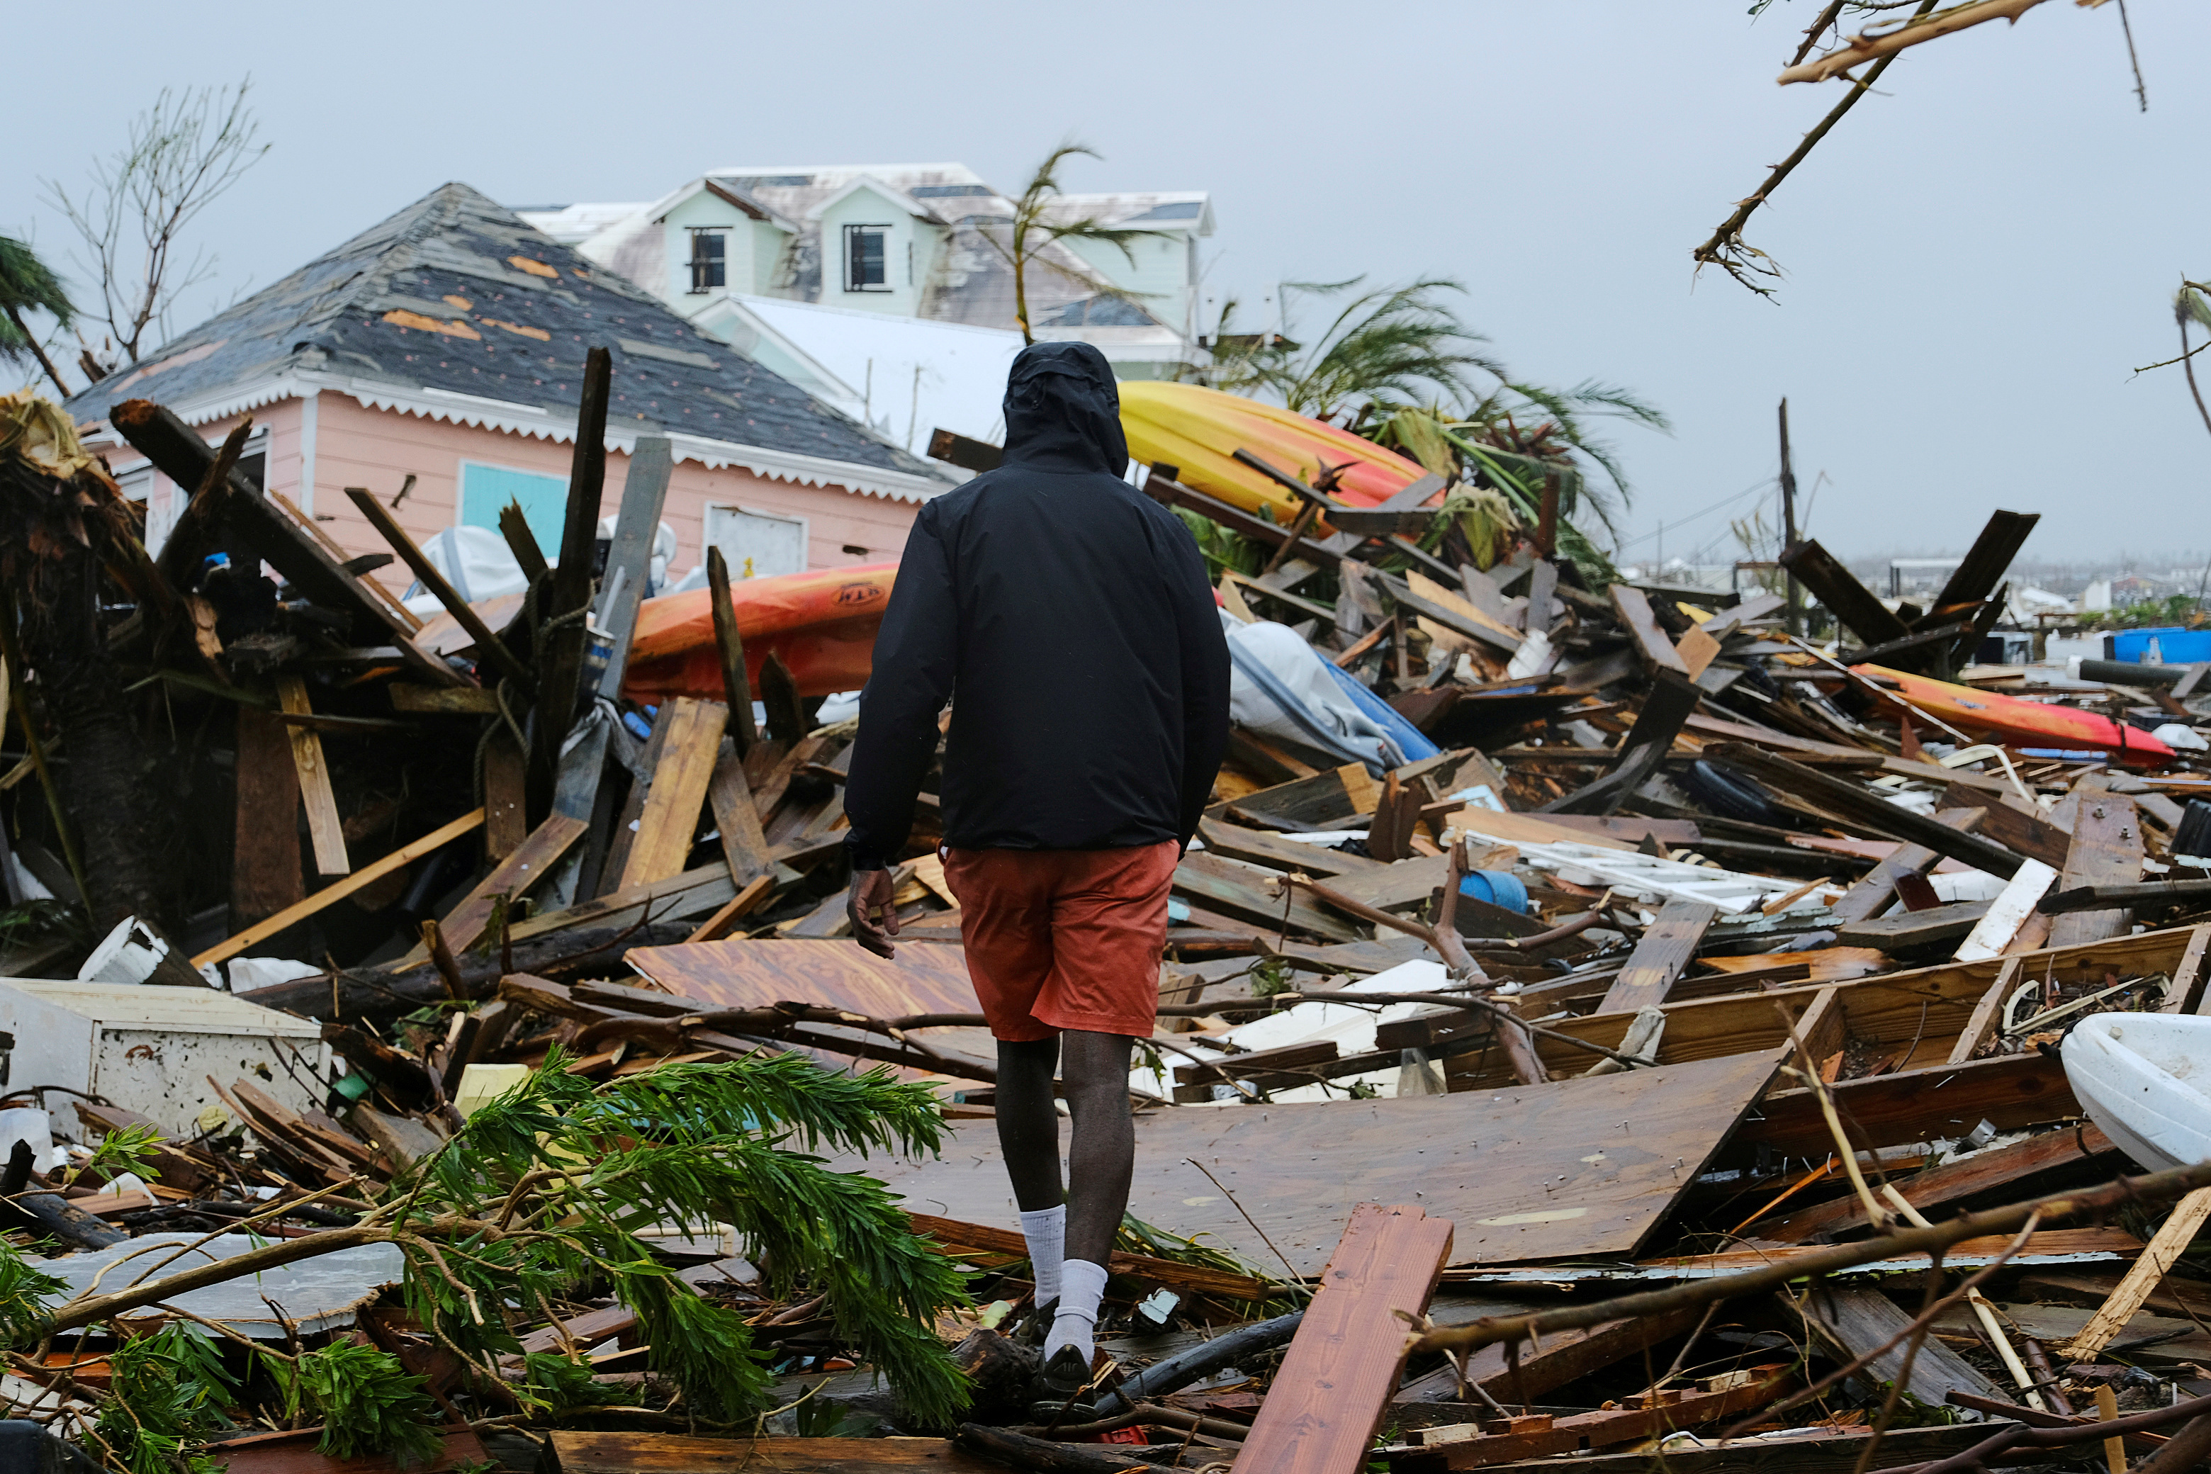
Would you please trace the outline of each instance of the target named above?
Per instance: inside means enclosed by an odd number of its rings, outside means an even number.
[[[944,880],[991,1032],[1150,1039],[1181,846],[955,849]]]

